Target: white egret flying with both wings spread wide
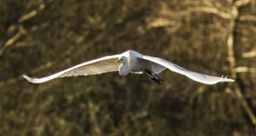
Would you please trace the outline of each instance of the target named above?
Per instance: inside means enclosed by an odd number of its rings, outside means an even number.
[[[186,75],[190,79],[205,84],[215,84],[221,82],[234,82],[234,80],[227,77],[217,77],[202,73],[195,73],[186,70],[175,63],[170,63],[158,57],[143,55],[141,53],[128,50],[125,53],[110,55],[86,63],[80,63],[76,66],[68,68],[67,70],[55,73],[43,78],[31,78],[23,75],[30,83],[46,83],[58,77],[77,76],[77,75],[92,75],[108,72],[119,71],[120,75],[127,75],[128,73],[145,73],[154,82],[163,82],[157,74],[165,69]]]

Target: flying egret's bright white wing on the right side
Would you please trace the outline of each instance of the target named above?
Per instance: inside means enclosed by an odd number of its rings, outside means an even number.
[[[216,77],[216,76],[211,76],[211,75],[206,75],[202,73],[194,73],[189,70],[186,70],[179,65],[175,63],[170,63],[169,61],[166,61],[164,59],[158,58],[158,57],[152,57],[148,55],[143,55],[142,59],[148,60],[153,63],[159,63],[160,65],[168,68],[169,70],[180,73],[183,75],[186,75],[190,79],[197,81],[199,83],[205,83],[205,84],[215,84],[215,83],[220,83],[220,82],[234,82],[232,79],[228,78],[223,78],[223,77]]]

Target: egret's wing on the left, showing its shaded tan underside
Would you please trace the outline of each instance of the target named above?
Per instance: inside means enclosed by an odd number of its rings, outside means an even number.
[[[98,58],[96,60],[92,60],[86,63],[80,63],[67,70],[43,78],[31,78],[26,75],[23,76],[30,83],[45,83],[57,77],[117,72],[118,66],[120,64],[116,62],[118,60],[118,57],[119,54]]]

